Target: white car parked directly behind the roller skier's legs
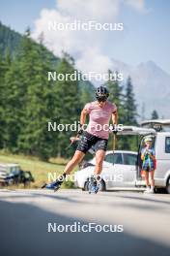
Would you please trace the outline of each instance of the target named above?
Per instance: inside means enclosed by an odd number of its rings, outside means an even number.
[[[75,186],[88,190],[89,177],[95,170],[96,159],[93,158],[85,168],[76,172]],[[100,180],[100,190],[116,187],[134,186],[136,177],[137,152],[115,150],[106,151]]]

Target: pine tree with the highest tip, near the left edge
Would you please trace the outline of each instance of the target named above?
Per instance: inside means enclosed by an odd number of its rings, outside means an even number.
[[[13,60],[9,71],[6,73],[6,146],[17,152],[18,136],[21,134],[25,116],[25,102],[27,88],[32,77],[32,66],[28,61],[28,55],[32,50],[32,44],[26,36],[23,38],[19,55]],[[27,52],[27,55],[26,53]],[[27,63],[28,61],[28,63]]]

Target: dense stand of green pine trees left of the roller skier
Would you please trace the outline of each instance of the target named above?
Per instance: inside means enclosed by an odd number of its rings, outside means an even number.
[[[48,132],[47,122],[71,124],[92,100],[92,84],[71,80],[47,80],[48,71],[74,72],[74,61],[68,53],[61,60],[30,38],[27,29],[21,45],[11,56],[6,49],[0,58],[0,148],[37,155],[43,160],[64,150],[74,132]],[[80,86],[83,86],[80,88]]]

